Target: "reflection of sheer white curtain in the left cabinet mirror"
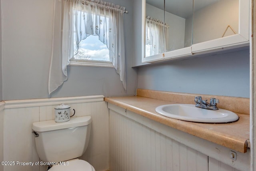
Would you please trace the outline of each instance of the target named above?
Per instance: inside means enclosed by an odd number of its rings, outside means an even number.
[[[152,56],[165,52],[168,44],[169,26],[161,20],[146,16],[146,56]],[[146,49],[147,51],[147,49]]]

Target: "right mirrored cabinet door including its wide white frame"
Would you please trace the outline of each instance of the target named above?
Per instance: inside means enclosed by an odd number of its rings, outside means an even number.
[[[192,53],[249,45],[249,0],[194,0],[193,15]]]

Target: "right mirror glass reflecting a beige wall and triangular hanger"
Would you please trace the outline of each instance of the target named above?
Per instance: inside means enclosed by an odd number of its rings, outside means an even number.
[[[193,44],[238,33],[239,0],[194,0]]]

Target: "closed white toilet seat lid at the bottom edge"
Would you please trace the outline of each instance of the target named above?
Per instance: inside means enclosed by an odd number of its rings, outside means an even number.
[[[77,159],[67,161],[68,165],[54,165],[48,171],[95,171],[87,161]]]

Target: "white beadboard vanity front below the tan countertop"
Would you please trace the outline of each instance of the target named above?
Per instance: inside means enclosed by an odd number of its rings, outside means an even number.
[[[166,125],[110,103],[108,107],[110,171],[248,171],[250,167],[249,152],[238,152],[244,155],[239,157],[242,161],[232,163],[226,147],[181,131],[176,134]]]

